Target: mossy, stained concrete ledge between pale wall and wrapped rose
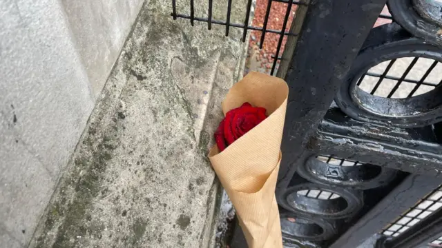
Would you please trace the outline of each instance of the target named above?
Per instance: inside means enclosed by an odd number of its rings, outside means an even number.
[[[195,6],[206,14],[206,1]],[[191,27],[170,12],[160,1],[142,8],[30,247],[213,242],[219,185],[206,154],[246,45],[241,30],[224,37],[222,26]]]

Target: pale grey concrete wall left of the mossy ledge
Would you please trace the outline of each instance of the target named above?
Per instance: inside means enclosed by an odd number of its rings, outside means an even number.
[[[0,1],[0,247],[26,247],[142,0]]]

